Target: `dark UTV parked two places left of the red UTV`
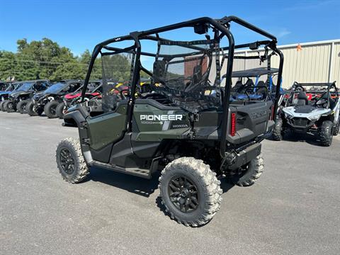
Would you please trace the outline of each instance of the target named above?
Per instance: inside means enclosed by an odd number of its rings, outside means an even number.
[[[26,105],[39,91],[45,91],[50,86],[48,80],[35,81],[21,81],[16,91],[9,94],[8,99],[3,104],[4,111],[12,113],[18,111],[19,113],[26,113]]]

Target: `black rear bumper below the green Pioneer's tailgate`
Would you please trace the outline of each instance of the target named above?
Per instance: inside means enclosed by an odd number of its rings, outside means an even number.
[[[226,160],[223,168],[234,170],[251,162],[261,153],[261,143],[256,142],[248,147],[243,147],[242,150],[237,152],[226,152]]]

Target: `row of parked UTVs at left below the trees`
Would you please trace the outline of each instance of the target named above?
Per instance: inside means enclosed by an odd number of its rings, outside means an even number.
[[[31,116],[45,115],[48,118],[63,118],[71,106],[80,103],[84,81],[63,80],[51,83],[48,80],[3,83],[0,91],[0,110],[8,113],[28,113]],[[85,100],[101,99],[102,82],[91,81],[86,89]]]

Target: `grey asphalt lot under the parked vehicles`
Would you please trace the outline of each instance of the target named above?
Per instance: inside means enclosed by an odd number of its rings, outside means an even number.
[[[55,148],[77,129],[61,123],[0,112],[0,254],[340,254],[340,135],[264,141],[261,179],[222,182],[220,211],[191,228],[164,217],[157,176],[63,181]]]

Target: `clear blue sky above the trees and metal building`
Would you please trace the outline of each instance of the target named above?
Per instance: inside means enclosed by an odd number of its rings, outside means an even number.
[[[279,45],[340,39],[340,0],[0,0],[0,50],[16,52],[22,38],[50,38],[81,55],[135,30],[230,15],[276,35]],[[234,28],[233,34],[238,43],[254,41],[246,30]]]

